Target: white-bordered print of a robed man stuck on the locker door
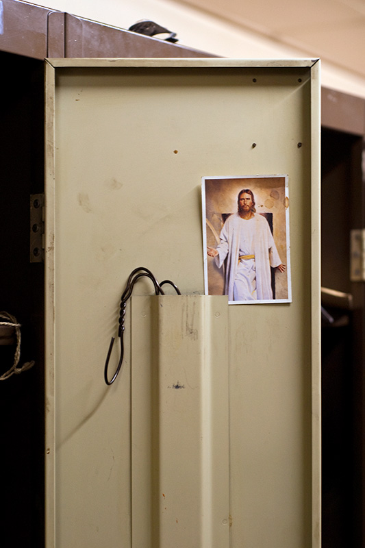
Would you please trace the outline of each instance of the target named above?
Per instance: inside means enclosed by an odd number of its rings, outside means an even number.
[[[205,295],[290,303],[287,175],[202,177]]]

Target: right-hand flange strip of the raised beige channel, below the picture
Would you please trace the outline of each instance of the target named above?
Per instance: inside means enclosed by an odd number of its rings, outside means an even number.
[[[221,299],[223,306],[217,306]],[[205,297],[201,369],[203,473],[201,547],[229,546],[229,364],[227,297]]]

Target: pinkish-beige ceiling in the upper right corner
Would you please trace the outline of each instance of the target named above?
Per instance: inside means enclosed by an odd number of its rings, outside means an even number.
[[[184,0],[365,77],[365,0]]]

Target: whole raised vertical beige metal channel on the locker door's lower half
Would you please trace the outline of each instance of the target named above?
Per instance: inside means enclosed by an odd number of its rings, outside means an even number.
[[[229,545],[227,297],[132,299],[132,546]]]

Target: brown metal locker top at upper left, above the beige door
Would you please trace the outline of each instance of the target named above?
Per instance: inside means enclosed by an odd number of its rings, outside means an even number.
[[[35,59],[215,56],[18,0],[0,1],[0,49]]]

